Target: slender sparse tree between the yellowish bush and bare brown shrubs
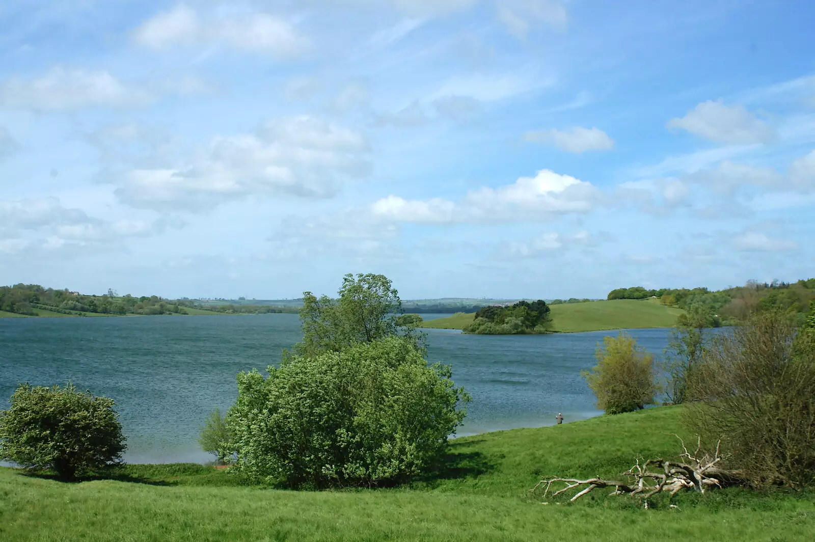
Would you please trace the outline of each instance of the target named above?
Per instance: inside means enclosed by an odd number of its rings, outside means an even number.
[[[669,376],[667,396],[671,403],[685,403],[688,378],[698,366],[707,344],[705,329],[712,328],[716,319],[702,305],[693,306],[676,319],[665,350],[665,370]]]

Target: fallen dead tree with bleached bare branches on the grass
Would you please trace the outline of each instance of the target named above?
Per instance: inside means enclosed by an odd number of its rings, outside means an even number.
[[[679,438],[676,434],[674,436]],[[535,493],[540,488],[545,488],[545,497],[553,489],[553,483],[565,483],[566,487],[554,491],[552,493],[553,497],[579,488],[575,496],[572,496],[569,500],[569,502],[575,502],[575,500],[598,487],[614,487],[615,491],[611,491],[609,496],[630,495],[648,499],[662,491],[670,492],[671,496],[676,495],[683,489],[704,493],[707,488],[727,487],[744,482],[737,471],[720,468],[719,463],[722,458],[719,447],[721,442],[716,443],[716,452],[712,456],[709,453],[704,453],[700,457],[699,455],[702,453],[701,439],[698,439],[696,451],[693,454],[688,452],[685,442],[681,438],[679,440],[682,443],[683,450],[679,460],[637,459],[637,463],[623,473],[624,480],[546,478],[537,483],[530,492]]]

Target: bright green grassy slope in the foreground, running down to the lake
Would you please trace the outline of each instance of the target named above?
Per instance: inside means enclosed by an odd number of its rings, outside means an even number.
[[[613,476],[673,456],[677,408],[461,438],[443,469],[382,490],[241,487],[201,465],[131,465],[122,480],[59,483],[0,469],[0,540],[813,540],[815,496],[746,490],[541,505],[548,474]],[[124,481],[129,479],[130,481]],[[663,496],[664,497],[664,496]]]

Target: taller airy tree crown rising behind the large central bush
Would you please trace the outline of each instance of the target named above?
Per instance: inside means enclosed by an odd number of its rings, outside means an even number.
[[[316,297],[303,293],[300,310],[303,340],[294,347],[297,355],[339,352],[359,342],[403,335],[421,345],[423,335],[399,319],[402,301],[385,275],[345,275],[339,297]]]

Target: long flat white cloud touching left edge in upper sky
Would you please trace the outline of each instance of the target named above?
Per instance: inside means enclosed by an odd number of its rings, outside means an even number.
[[[88,107],[130,108],[155,97],[127,86],[104,71],[51,68],[40,77],[11,77],[0,82],[0,107],[69,111]]]

